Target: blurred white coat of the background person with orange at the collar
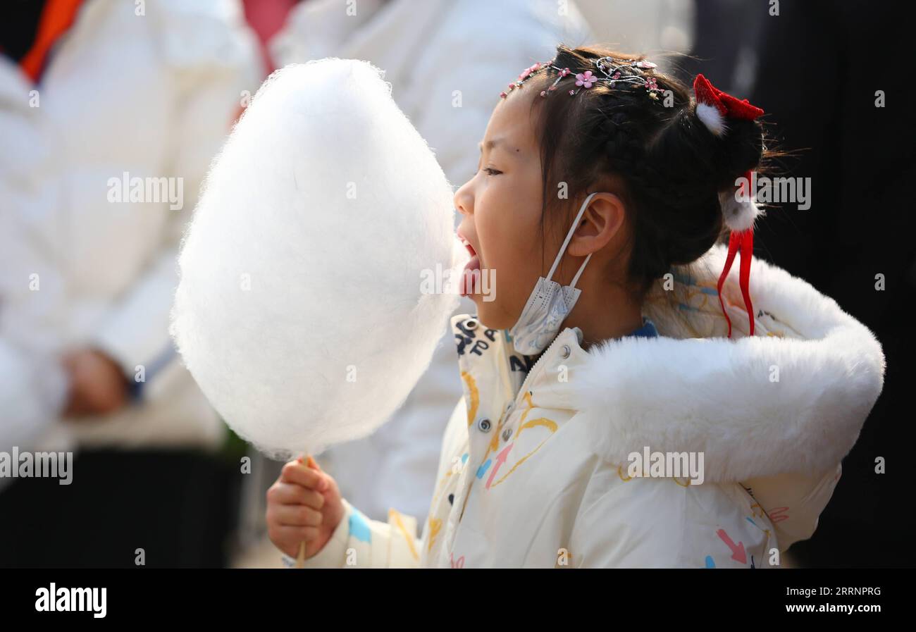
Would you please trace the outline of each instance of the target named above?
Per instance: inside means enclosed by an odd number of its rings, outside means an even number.
[[[32,437],[36,449],[222,441],[224,426],[174,353],[169,309],[183,227],[243,91],[258,79],[254,40],[234,0],[157,0],[144,15],[132,2],[85,2],[37,86],[0,62],[0,118],[19,108],[13,128],[29,164],[0,173],[25,201],[0,199],[17,231],[0,287],[0,335],[46,363],[57,362],[48,353],[93,347],[126,376],[146,370],[142,405],[99,420],[50,420]],[[24,114],[33,90],[38,107]],[[125,172],[180,178],[183,205],[110,202],[111,180]],[[36,272],[40,290],[30,291]]]

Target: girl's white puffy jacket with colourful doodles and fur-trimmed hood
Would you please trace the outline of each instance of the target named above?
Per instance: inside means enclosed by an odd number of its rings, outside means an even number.
[[[659,337],[589,351],[565,329],[526,372],[505,331],[453,319],[464,397],[442,440],[429,518],[349,503],[322,566],[781,565],[809,538],[878,398],[874,335],[799,278],[755,260],[755,335],[725,248],[644,306]],[[703,483],[633,477],[633,452],[703,453]],[[671,473],[664,473],[671,474]]]

